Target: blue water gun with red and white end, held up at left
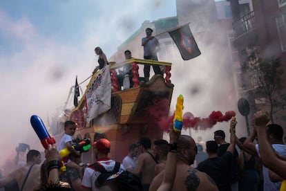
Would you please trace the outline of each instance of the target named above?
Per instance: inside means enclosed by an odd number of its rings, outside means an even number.
[[[48,131],[44,125],[44,122],[39,118],[39,116],[31,116],[30,123],[32,125],[32,128],[35,130],[37,136],[39,137],[39,140],[41,140],[41,145],[45,149],[48,149],[48,145],[55,144],[55,138],[51,137],[50,134],[48,134]],[[66,171],[66,167],[64,166],[63,161],[60,162],[61,165],[59,167],[59,171]]]

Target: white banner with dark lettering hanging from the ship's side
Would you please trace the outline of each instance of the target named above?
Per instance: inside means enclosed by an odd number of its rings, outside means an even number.
[[[111,109],[111,72],[109,65],[104,66],[86,91],[88,116],[87,122]]]

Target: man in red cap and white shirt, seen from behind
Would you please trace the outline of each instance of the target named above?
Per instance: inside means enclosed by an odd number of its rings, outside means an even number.
[[[102,167],[105,168],[106,171],[112,172],[113,168],[115,167],[115,161],[108,158],[108,153],[111,150],[111,143],[106,138],[100,138],[99,140],[93,143],[93,151],[95,152],[95,157],[97,161],[95,163],[99,163]],[[125,170],[124,166],[120,165],[120,171]],[[82,178],[82,190],[99,190],[95,186],[95,181],[99,176],[99,170],[95,170],[91,167],[86,167],[84,170],[84,177]]]

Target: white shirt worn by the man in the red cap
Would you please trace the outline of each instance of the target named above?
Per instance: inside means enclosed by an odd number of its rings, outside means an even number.
[[[108,172],[113,171],[113,168],[115,167],[115,161],[110,158],[99,158],[97,163],[100,163]],[[125,170],[125,168],[120,164],[120,171],[123,170]],[[86,170],[84,170],[84,177],[82,177],[82,186],[85,188],[92,188],[93,191],[99,190],[99,188],[95,187],[95,181],[99,174],[101,173],[90,167],[86,167]]]

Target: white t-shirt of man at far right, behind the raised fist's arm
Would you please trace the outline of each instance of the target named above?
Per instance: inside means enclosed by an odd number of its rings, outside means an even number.
[[[286,145],[272,144],[272,147],[278,154],[282,156],[286,156]],[[260,156],[258,144],[256,144],[256,152]],[[265,191],[280,190],[281,182],[274,183],[270,181],[269,174],[268,174],[268,168],[265,167],[264,165],[263,165],[263,179],[264,179],[263,188]]]

